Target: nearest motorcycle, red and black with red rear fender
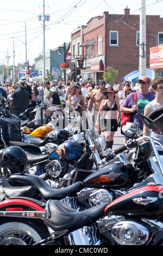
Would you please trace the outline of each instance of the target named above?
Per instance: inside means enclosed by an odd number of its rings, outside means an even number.
[[[62,200],[50,199],[46,206],[31,198],[4,200],[0,245],[161,245],[163,167],[152,138],[142,136],[135,143],[144,140],[151,143],[158,165],[139,187],[84,211]]]

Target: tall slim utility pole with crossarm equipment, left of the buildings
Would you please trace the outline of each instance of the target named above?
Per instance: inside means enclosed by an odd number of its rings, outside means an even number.
[[[45,0],[43,0],[43,15],[39,15],[39,21],[43,21],[43,56],[42,56],[42,75],[43,79],[42,81],[45,81],[45,75],[46,75],[46,66],[45,66],[45,21],[49,21],[49,15],[45,15]]]

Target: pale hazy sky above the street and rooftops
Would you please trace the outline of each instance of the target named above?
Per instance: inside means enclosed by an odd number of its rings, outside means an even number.
[[[124,14],[128,7],[130,14],[140,14],[141,0],[45,0],[45,51],[71,41],[71,33],[77,27],[86,25],[91,17],[109,14]],[[26,62],[34,64],[34,58],[43,51],[43,26],[38,16],[43,15],[43,0],[0,0],[0,64],[9,65]],[[146,0],[146,15],[160,15],[163,18],[163,0]],[[26,25],[26,29],[25,29]],[[163,30],[163,28],[162,28]]]

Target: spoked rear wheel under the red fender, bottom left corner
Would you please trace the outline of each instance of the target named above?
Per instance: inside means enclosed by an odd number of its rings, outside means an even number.
[[[33,245],[41,239],[36,229],[23,222],[7,222],[0,225],[0,245]]]

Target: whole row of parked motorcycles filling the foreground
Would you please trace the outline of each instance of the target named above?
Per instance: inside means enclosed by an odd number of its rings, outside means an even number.
[[[162,245],[157,142],[135,121],[123,127],[126,145],[105,149],[89,112],[84,127],[82,109],[68,108],[66,119],[61,100],[61,108],[36,102],[17,118],[0,99],[0,245]],[[139,114],[162,134],[162,113]]]

